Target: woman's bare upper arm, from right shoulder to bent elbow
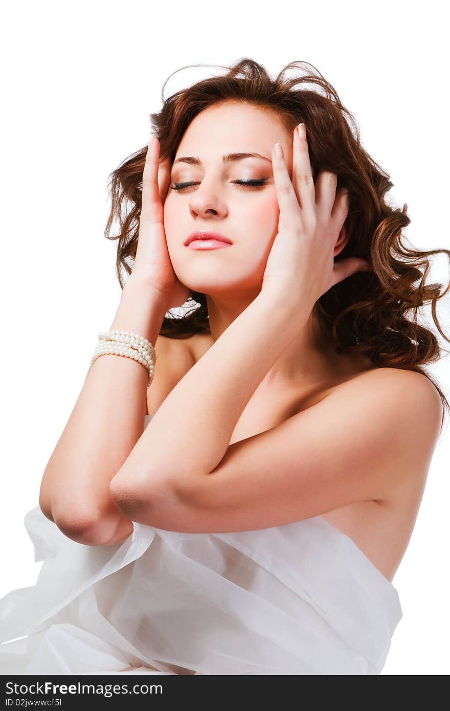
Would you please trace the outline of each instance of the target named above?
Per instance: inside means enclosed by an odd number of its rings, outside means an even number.
[[[387,501],[428,469],[441,413],[424,375],[364,373],[277,427],[231,444],[210,474],[193,472],[178,488],[174,473],[152,497],[149,523],[181,532],[256,530]]]

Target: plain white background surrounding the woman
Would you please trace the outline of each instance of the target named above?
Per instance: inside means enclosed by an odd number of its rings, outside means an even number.
[[[149,140],[169,74],[250,57],[272,76],[315,65],[358,121],[365,149],[408,205],[414,247],[450,247],[449,62],[443,7],[380,2],[271,5],[10,3],[1,29],[0,597],[36,581],[23,516],[119,302],[116,243],[103,236],[107,176]],[[165,96],[218,68],[186,69]],[[439,257],[432,281],[447,284]],[[450,331],[449,300],[438,314]],[[431,316],[430,316],[431,318]],[[450,346],[449,346],[450,348]],[[449,358],[434,365],[450,397]],[[370,415],[370,412],[368,412]],[[394,579],[403,619],[384,674],[450,671],[446,425]]]

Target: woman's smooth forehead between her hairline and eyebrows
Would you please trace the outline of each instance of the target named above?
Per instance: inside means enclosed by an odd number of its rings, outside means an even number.
[[[195,116],[183,134],[175,159],[228,151],[265,151],[269,156],[273,144],[288,136],[282,116],[274,109],[227,100]]]

